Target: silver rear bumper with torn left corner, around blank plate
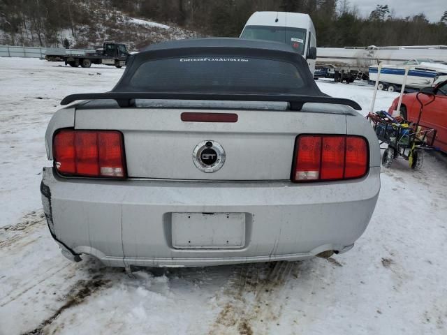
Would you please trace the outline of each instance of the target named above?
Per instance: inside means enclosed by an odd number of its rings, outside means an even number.
[[[43,171],[43,207],[65,253],[106,265],[207,266],[301,260],[349,250],[365,231],[380,189],[380,168],[356,181],[98,181]],[[239,248],[175,248],[172,213],[244,213]]]

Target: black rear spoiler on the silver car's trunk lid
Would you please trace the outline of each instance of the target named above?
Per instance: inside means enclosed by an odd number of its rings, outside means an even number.
[[[166,93],[166,92],[106,92],[71,94],[61,101],[61,105],[68,105],[79,100],[115,100],[119,107],[134,107],[135,99],[147,100],[214,100],[214,101],[269,101],[288,102],[291,110],[301,110],[305,103],[330,103],[347,105],[354,110],[362,110],[355,101],[330,96],[298,96],[273,94],[197,94],[197,93]]]

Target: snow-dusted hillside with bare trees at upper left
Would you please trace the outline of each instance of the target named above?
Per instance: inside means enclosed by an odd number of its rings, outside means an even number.
[[[122,8],[110,0],[0,0],[0,45],[86,48],[115,40],[138,50],[198,36],[175,24],[135,19]]]

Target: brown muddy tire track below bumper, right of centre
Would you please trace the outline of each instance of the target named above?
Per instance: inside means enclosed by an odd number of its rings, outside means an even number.
[[[300,262],[243,265],[223,295],[223,307],[208,334],[268,334],[277,325],[286,297],[284,285]]]

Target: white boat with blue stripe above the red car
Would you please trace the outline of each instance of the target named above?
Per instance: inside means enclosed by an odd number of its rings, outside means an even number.
[[[369,80],[375,82],[379,66],[369,66]],[[406,68],[409,73],[406,87],[421,89],[447,79],[447,66],[432,59],[411,59],[399,65],[382,65],[379,77],[379,89],[395,91],[402,86]]]

